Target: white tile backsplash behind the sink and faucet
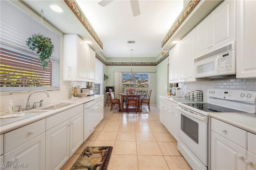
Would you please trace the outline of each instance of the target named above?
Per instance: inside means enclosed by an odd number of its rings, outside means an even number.
[[[82,88],[86,88],[86,82],[72,82],[72,81],[60,81],[60,90],[48,90],[50,97],[48,98],[45,93],[38,92],[32,94],[30,97],[30,105],[32,106],[33,102],[39,102],[40,100],[44,100],[44,103],[47,102],[61,102],[60,99],[70,98],[71,88],[76,87],[78,92],[81,92]],[[23,108],[26,107],[26,102],[28,95],[31,92],[17,92],[17,93],[1,93],[0,94],[0,112],[6,112],[8,110],[8,104],[10,100],[14,100],[13,109],[16,109],[15,106],[22,105]],[[39,104],[37,104],[39,106]]]

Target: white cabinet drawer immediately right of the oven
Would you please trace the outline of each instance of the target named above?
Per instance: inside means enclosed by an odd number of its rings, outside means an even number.
[[[231,140],[232,142],[247,149],[247,132],[215,118],[212,118],[211,130],[220,134],[221,136]]]

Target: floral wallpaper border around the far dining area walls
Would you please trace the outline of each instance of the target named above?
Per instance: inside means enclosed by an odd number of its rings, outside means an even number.
[[[164,59],[169,57],[169,51],[164,54],[157,62],[133,62],[133,66],[157,66],[160,62],[162,62]],[[97,53],[96,58],[100,60],[105,66],[130,66],[130,62],[106,62],[103,60]]]

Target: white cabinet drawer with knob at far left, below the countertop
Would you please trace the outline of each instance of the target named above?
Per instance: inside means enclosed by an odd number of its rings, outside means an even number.
[[[45,132],[45,119],[4,134],[4,153]]]

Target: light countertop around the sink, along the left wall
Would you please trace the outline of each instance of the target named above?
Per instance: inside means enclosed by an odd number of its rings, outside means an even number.
[[[75,106],[78,106],[80,104],[84,104],[86,102],[90,102],[94,99],[100,98],[104,95],[92,95],[92,96],[86,96],[86,97],[79,97],[79,98],[67,98],[67,99],[63,99],[58,101],[58,103],[61,102],[68,102],[70,103],[70,105],[62,107],[62,108],[58,108],[56,110],[49,110],[48,112],[44,112],[44,113],[25,113],[25,116],[20,116],[20,117],[15,117],[15,118],[5,118],[5,119],[1,119],[0,120],[0,134],[9,132],[11,130],[14,130],[16,128],[20,128],[22,126],[25,126],[27,124],[36,122],[38,120],[44,119],[46,117],[52,116],[54,114],[57,114],[59,112],[63,112],[64,110],[68,110],[70,108],[73,108]],[[44,106],[50,106],[52,103],[45,103]],[[40,109],[40,108],[37,108]],[[36,109],[35,109],[36,110]],[[13,113],[13,114],[18,114]],[[31,116],[32,115],[32,116]],[[6,122],[8,122],[6,124]],[[5,124],[5,125],[1,125],[1,124]]]

